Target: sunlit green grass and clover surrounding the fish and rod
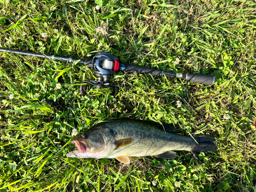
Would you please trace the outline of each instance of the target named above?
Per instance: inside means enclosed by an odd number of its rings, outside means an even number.
[[[80,63],[0,53],[0,191],[255,191],[255,5],[0,0],[0,47],[75,58],[104,51],[123,63],[217,78],[204,86],[119,73],[112,79],[117,98],[96,88],[80,96],[71,84],[95,79]],[[45,99],[68,108],[55,111]],[[130,165],[66,158],[74,128],[82,133],[123,117],[169,123],[182,135],[214,135],[219,150],[132,158]]]

